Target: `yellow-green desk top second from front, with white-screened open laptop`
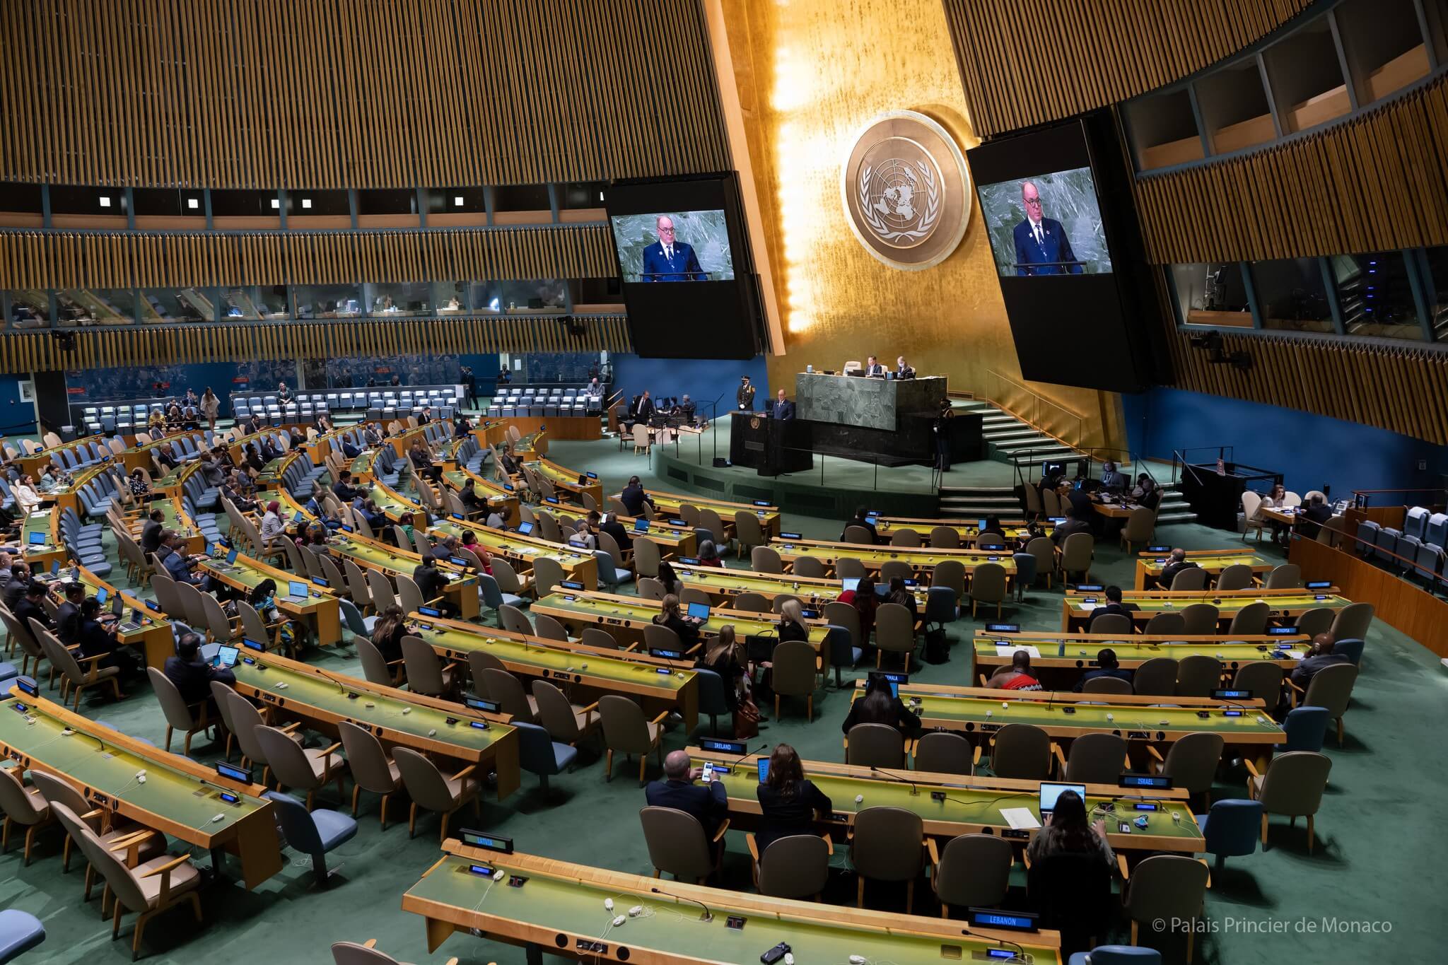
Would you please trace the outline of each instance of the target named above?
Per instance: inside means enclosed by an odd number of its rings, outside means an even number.
[[[741,825],[753,828],[759,819],[759,760],[767,754],[752,754],[743,761],[714,754],[701,748],[688,748],[692,767],[705,764],[718,768],[728,767],[728,773],[718,775],[724,781],[724,793],[728,796],[731,826],[738,817]],[[805,777],[814,781],[815,787],[830,799],[833,813],[820,822],[821,828],[835,828],[843,830],[854,825],[859,812],[867,807],[904,807],[919,815],[925,825],[925,833],[954,838],[956,835],[972,833],[1001,833],[1009,829],[1011,822],[1001,813],[1005,807],[1024,807],[1031,812],[1037,823],[1041,820],[1041,783],[1024,781],[1001,777],[967,777],[963,774],[931,774],[928,771],[908,771],[899,768],[892,771],[895,777],[882,771],[872,771],[867,767],[851,767],[850,764],[834,764],[825,761],[801,761]],[[902,778],[902,780],[896,780]],[[914,790],[911,783],[914,783]],[[940,800],[940,796],[944,800]],[[1135,812],[1132,806],[1145,799],[1158,802],[1160,810]],[[856,797],[864,800],[856,802]],[[1114,813],[1131,812],[1129,819],[1135,820],[1145,815],[1145,828],[1132,828],[1129,835],[1115,830],[1115,823],[1108,829],[1108,839],[1114,849],[1150,849],[1174,851],[1195,854],[1205,848],[1202,830],[1192,816],[1187,803],[1187,791],[1134,791],[1125,787],[1109,784],[1087,784],[1086,806],[1100,812],[1112,803]],[[1118,804],[1118,802],[1125,802]],[[1171,813],[1179,815],[1177,820]],[[1100,812],[1105,813],[1105,812]],[[1093,815],[1093,817],[1100,816]],[[1025,829],[1022,829],[1025,830]],[[1014,838],[1025,843],[1034,835],[1034,829]],[[1011,835],[1006,835],[1011,838]]]

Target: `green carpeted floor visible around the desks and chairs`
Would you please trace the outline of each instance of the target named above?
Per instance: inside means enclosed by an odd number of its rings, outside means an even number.
[[[610,492],[630,473],[653,482],[646,472],[647,460],[631,451],[620,453],[613,441],[555,443],[550,454],[566,466],[598,472]],[[835,537],[841,527],[840,521],[796,515],[789,515],[786,524],[811,537]],[[1163,530],[1160,540],[1196,548],[1237,544],[1231,534],[1197,525]],[[109,537],[106,543],[114,558]],[[1274,548],[1264,548],[1264,553],[1280,556]],[[1131,561],[1115,545],[1103,545],[1098,550],[1093,574],[1128,584]],[[1028,628],[1054,629],[1060,624],[1060,589],[1035,589],[1027,603],[1012,612]],[[950,635],[956,641],[966,639],[975,625],[966,616]],[[957,647],[951,663],[925,667],[917,679],[967,683],[973,674],[966,654],[964,647]],[[307,658],[333,671],[362,673],[350,647],[313,650]],[[1306,854],[1300,822],[1293,829],[1286,820],[1274,819],[1270,851],[1232,859],[1225,872],[1213,875],[1199,926],[1205,933],[1197,939],[1196,961],[1231,965],[1280,964],[1290,958],[1442,961],[1442,952],[1432,951],[1438,940],[1432,938],[1431,923],[1436,920],[1444,896],[1448,835],[1432,830],[1438,826],[1432,809],[1448,791],[1448,768],[1444,767],[1448,684],[1438,661],[1425,648],[1383,622],[1370,634],[1363,671],[1347,716],[1347,747],[1329,745],[1328,749],[1334,770],[1318,816],[1318,849],[1310,856]],[[783,719],[769,720],[762,738],[788,741],[805,758],[840,760],[840,722],[847,700],[847,693],[833,687],[820,692],[814,723],[805,723],[802,705],[786,705]],[[84,712],[152,741],[159,742],[164,735],[159,707],[145,686],[138,686],[120,703],[96,699]],[[686,739],[688,735],[675,731],[665,738],[665,747],[683,747]],[[219,749],[206,745],[204,738],[198,747],[193,745],[193,754],[204,761],[214,760]],[[650,775],[654,773],[650,765]],[[592,749],[582,755],[573,774],[553,778],[547,796],[536,790],[536,778],[524,774],[524,790],[505,802],[485,803],[482,826],[511,835],[521,851],[650,874],[637,817],[643,791],[623,764],[615,767],[615,774],[613,783],[604,781],[599,755]],[[1216,797],[1239,796],[1245,796],[1242,771],[1224,771]],[[323,794],[321,806],[333,804]],[[256,891],[245,891],[230,877],[209,887],[203,894],[204,926],[195,926],[184,911],[156,919],[146,929],[149,961],[211,965],[235,962],[245,955],[269,962],[327,962],[330,942],[368,938],[379,939],[379,948],[388,953],[418,964],[443,962],[453,955],[463,962],[523,961],[520,949],[466,936],[453,936],[429,956],[421,920],[404,914],[400,900],[437,858],[436,817],[420,819],[414,841],[407,838],[405,822],[381,832],[376,802],[363,794],[359,820],[358,836],[332,855],[332,862],[340,864],[332,888],[317,890],[306,858],[288,852],[282,872]],[[172,852],[180,849],[172,842]],[[39,949],[20,961],[56,965],[126,961],[132,919],[127,917],[122,940],[111,943],[109,924],[100,920],[98,900],[87,906],[80,903],[81,872],[74,867],[70,875],[62,875],[59,852],[61,835],[51,830],[41,835],[29,868],[22,867],[14,848],[0,858],[0,907],[36,914],[49,933]],[[206,855],[197,858],[209,864]],[[844,849],[835,854],[834,864],[827,900],[849,903],[854,885]],[[1011,900],[1022,903],[1024,878],[1018,878],[1022,887]],[[730,835],[723,881],[747,890],[749,880],[743,838]],[[883,897],[879,888],[872,888],[870,894]],[[928,894],[928,887],[917,888],[917,896],[927,896],[918,900],[917,911],[935,914]],[[1380,932],[1392,930],[1386,935],[1329,930],[1364,927],[1364,923]],[[1118,927],[1116,938],[1125,940],[1127,935]],[[1180,961],[1180,940],[1157,943],[1169,961]]]

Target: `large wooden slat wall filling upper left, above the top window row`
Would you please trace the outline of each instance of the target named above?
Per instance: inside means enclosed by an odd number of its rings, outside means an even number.
[[[543,184],[728,168],[698,0],[14,0],[0,179]]]

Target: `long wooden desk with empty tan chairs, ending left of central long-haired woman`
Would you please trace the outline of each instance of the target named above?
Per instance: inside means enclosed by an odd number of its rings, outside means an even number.
[[[649,716],[678,710],[686,732],[699,722],[699,686],[694,663],[524,637],[505,629],[410,613],[408,622],[439,655],[460,664],[473,651],[492,654],[508,673],[555,683],[573,703],[586,705],[597,694],[637,697]]]

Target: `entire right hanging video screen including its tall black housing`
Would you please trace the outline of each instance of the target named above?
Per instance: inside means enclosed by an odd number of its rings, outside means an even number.
[[[1148,272],[1109,114],[999,137],[966,156],[1021,375],[1114,392],[1151,385],[1160,326],[1142,324],[1134,276]]]

